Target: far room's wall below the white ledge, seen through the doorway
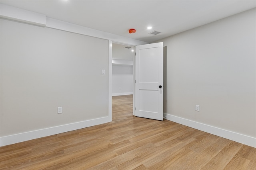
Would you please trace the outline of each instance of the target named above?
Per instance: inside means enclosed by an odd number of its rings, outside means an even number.
[[[133,66],[112,65],[112,96],[133,94]]]

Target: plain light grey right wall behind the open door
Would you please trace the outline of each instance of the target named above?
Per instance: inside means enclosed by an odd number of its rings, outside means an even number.
[[[161,41],[167,117],[251,137],[256,147],[256,8]]]

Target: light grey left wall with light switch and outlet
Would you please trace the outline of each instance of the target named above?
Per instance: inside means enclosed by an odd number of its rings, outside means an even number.
[[[108,40],[1,19],[0,49],[1,141],[108,117]]]

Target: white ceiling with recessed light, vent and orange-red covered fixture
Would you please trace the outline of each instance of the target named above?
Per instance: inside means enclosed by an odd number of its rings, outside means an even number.
[[[256,7],[256,0],[0,0],[0,3],[148,43]],[[153,28],[148,30],[148,26]],[[130,28],[137,32],[129,34]],[[150,35],[152,31],[161,33]]]

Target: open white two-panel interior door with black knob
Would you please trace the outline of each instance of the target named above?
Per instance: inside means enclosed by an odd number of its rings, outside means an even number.
[[[135,116],[163,120],[163,43],[136,46]]]

